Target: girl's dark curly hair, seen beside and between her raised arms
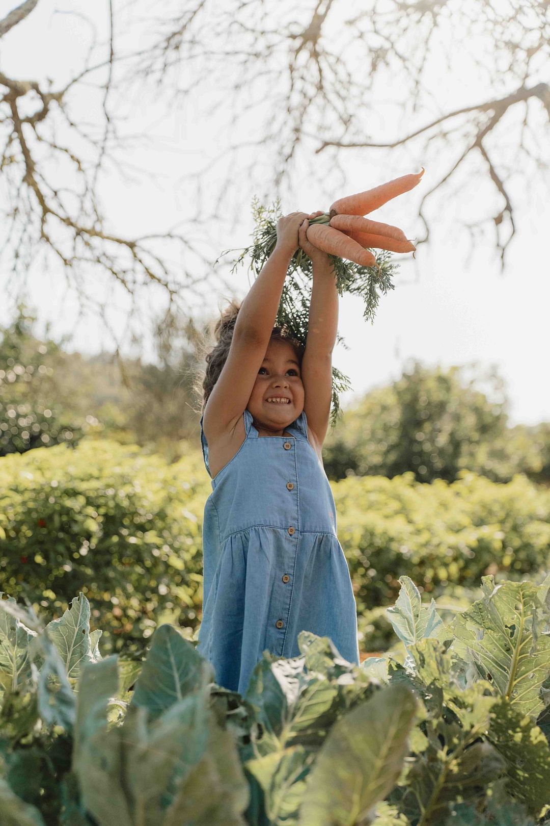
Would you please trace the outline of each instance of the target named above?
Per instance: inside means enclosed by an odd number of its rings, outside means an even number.
[[[229,348],[233,340],[233,330],[235,329],[235,321],[237,320],[238,311],[241,309],[242,302],[229,301],[228,306],[221,312],[219,319],[214,324],[214,339],[215,344],[203,344],[202,356],[206,362],[206,368],[196,378],[195,394],[198,398],[202,396],[200,413],[204,412],[204,407],[209,399],[209,395],[214,389],[214,384],[219,379],[219,374],[222,372],[223,365],[227,361]],[[211,335],[211,333],[210,333]],[[284,327],[275,326],[271,332],[270,339],[277,339],[279,341],[288,341],[294,349],[296,358],[299,364],[302,364],[303,344]]]

